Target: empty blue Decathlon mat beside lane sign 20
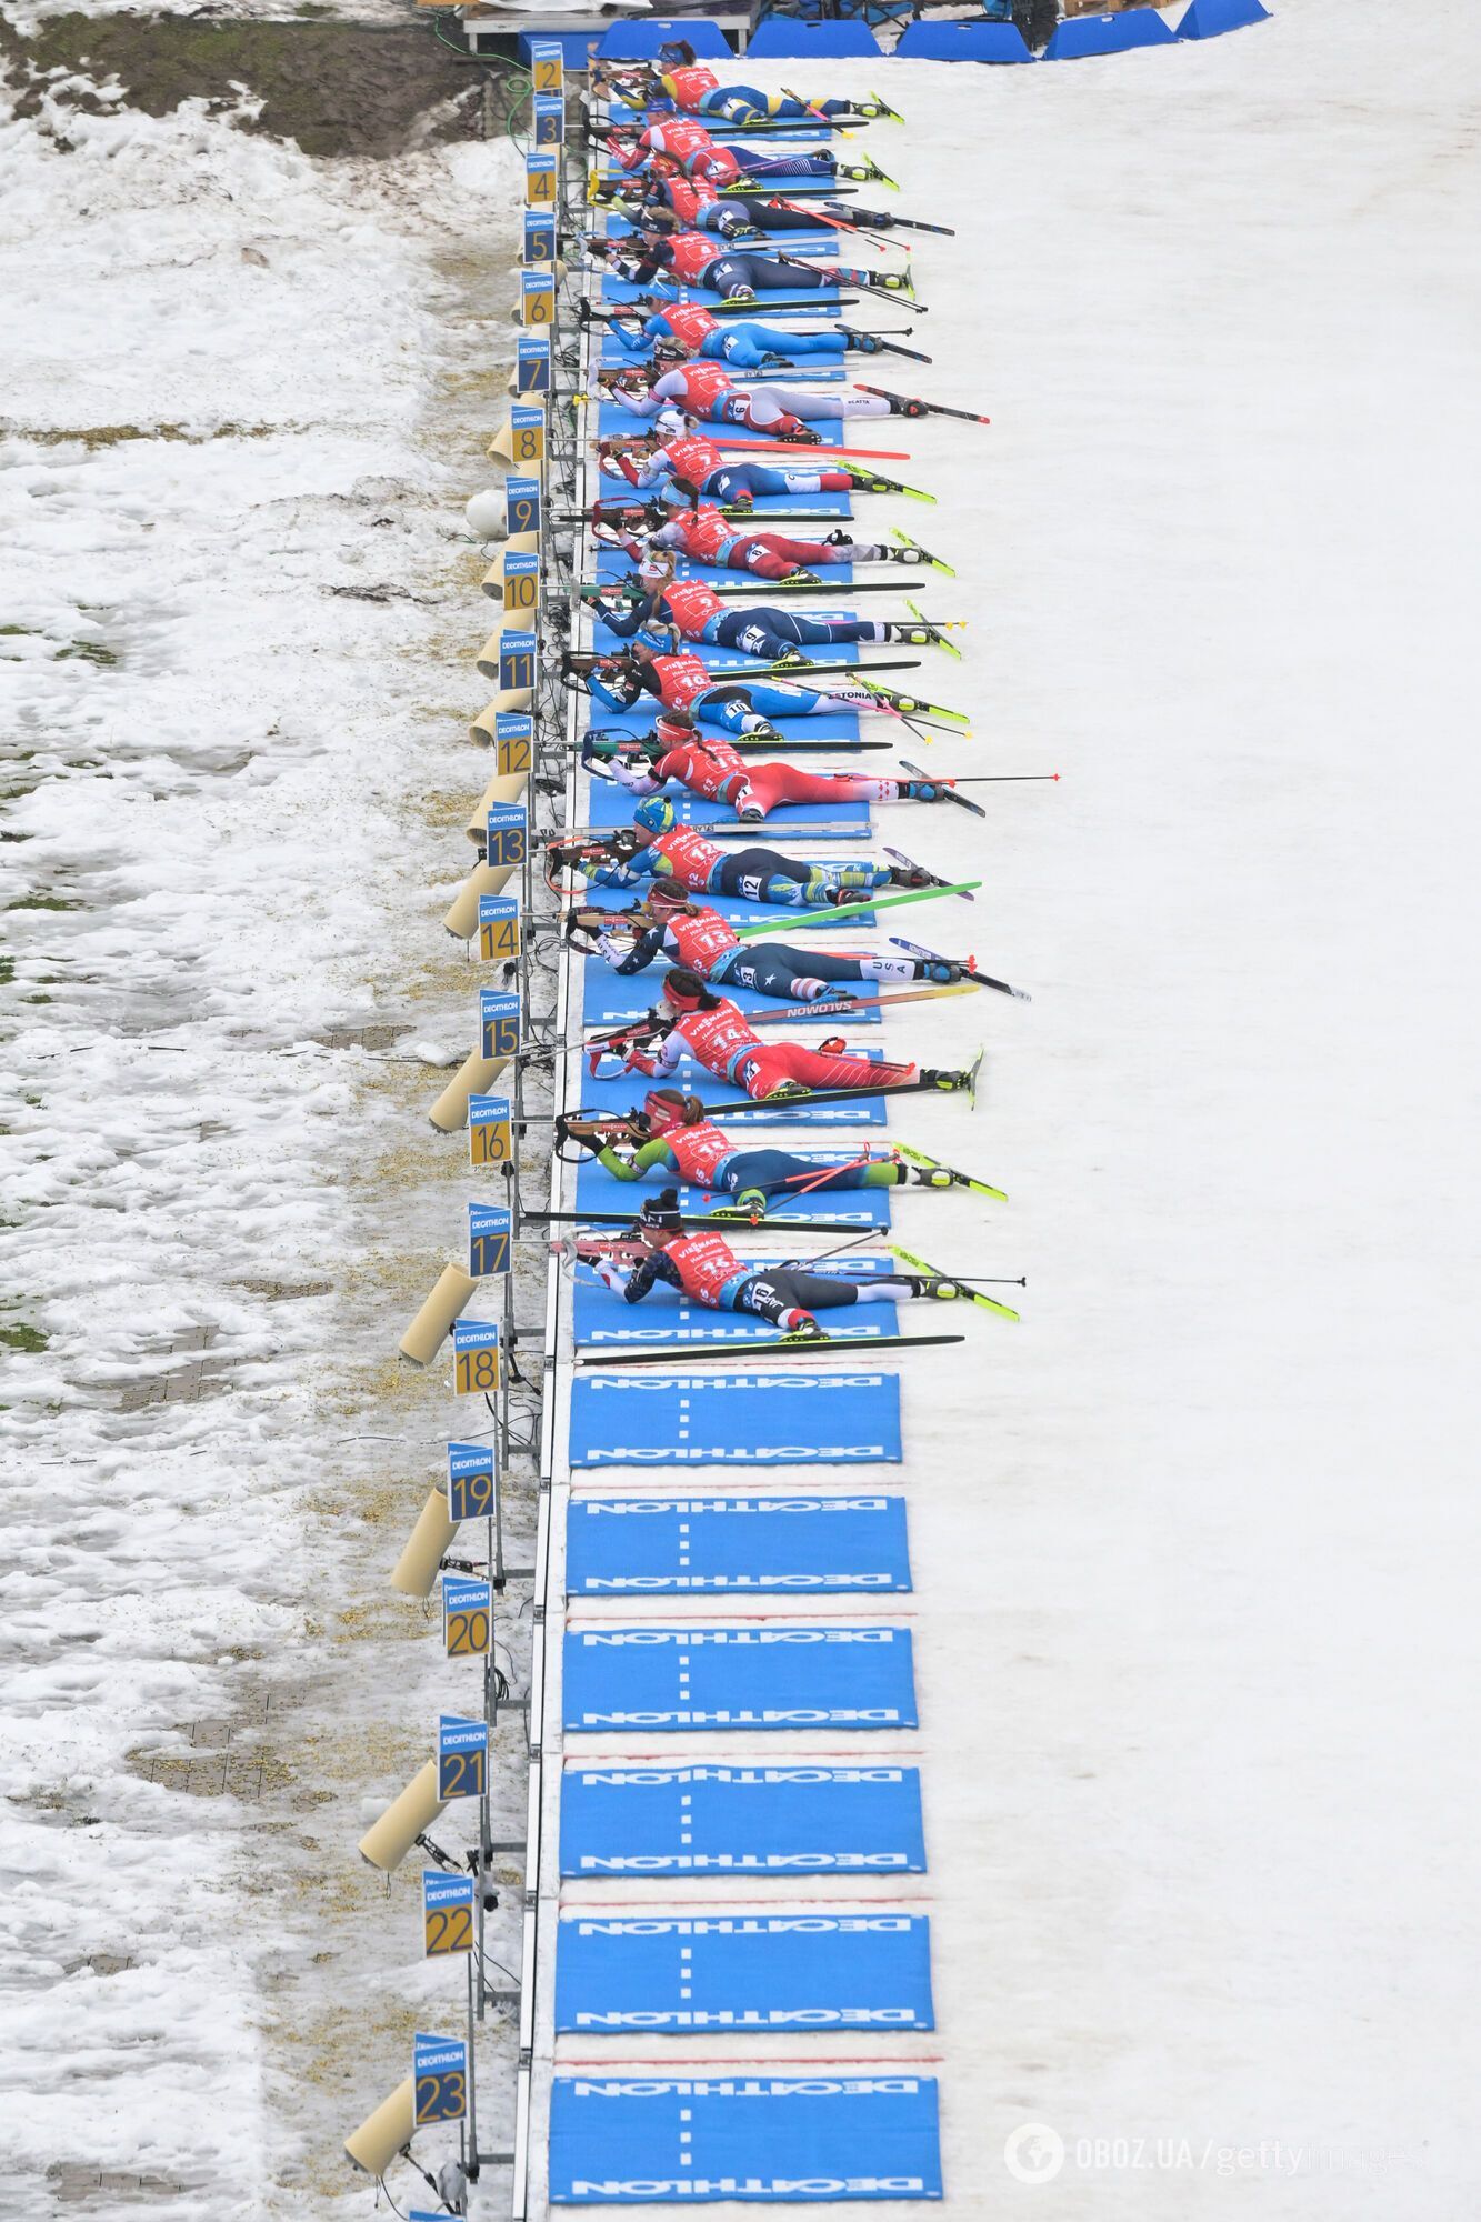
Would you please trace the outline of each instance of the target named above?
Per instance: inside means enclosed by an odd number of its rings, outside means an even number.
[[[910,1629],[567,1629],[565,1729],[914,1729]]]

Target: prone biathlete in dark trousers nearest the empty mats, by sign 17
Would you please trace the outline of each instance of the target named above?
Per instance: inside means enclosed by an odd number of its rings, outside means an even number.
[[[743,1264],[723,1235],[707,1229],[685,1233],[676,1189],[665,1189],[643,1207],[627,1242],[638,1253],[634,1264],[609,1255],[609,1247],[594,1235],[576,1238],[576,1255],[625,1302],[640,1304],[663,1284],[709,1311],[745,1311],[805,1342],[829,1340],[816,1320],[818,1311],[965,1293],[958,1282],[938,1273],[872,1273],[856,1280],[847,1273],[809,1273],[803,1264]]]

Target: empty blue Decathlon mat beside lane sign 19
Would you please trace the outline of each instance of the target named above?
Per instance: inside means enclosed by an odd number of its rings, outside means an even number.
[[[571,1498],[567,1598],[910,1589],[905,1498]]]

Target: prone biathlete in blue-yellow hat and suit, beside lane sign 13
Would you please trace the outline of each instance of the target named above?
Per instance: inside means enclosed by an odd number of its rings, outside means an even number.
[[[725,849],[674,820],[663,795],[640,802],[629,827],[600,838],[556,840],[554,867],[574,867],[596,887],[638,887],[647,878],[676,880],[696,895],[738,895],[789,909],[856,902],[876,887],[941,887],[918,864],[821,864],[781,849]]]

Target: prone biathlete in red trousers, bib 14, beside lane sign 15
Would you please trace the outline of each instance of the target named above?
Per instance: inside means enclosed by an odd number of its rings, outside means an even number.
[[[634,1029],[612,1051],[600,1044],[587,1055],[594,1080],[623,1071],[669,1080],[685,1058],[694,1058],[716,1080],[729,1080],[752,1102],[778,1102],[812,1091],[861,1089],[941,1089],[956,1093],[976,1084],[976,1071],[943,1071],[941,1067],[872,1062],[843,1042],[823,1049],[803,1042],[763,1042],[756,1029],[725,995],[712,995],[698,973],[676,964],[663,978],[663,1002],[649,1011],[643,1031]]]

